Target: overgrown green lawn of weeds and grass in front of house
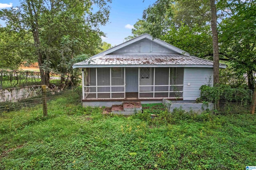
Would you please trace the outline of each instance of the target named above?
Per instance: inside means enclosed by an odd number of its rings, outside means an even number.
[[[153,105],[154,106],[154,105]],[[150,106],[148,106],[150,107]],[[76,94],[0,113],[0,169],[245,169],[256,165],[256,118],[170,114],[133,116],[83,108]],[[156,109],[154,109],[155,112]]]

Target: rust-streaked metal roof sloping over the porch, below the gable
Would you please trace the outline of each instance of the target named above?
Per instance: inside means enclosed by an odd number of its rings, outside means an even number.
[[[213,62],[198,57],[180,54],[147,55],[103,55],[89,58],[73,65],[73,68],[86,67],[213,67]],[[220,64],[220,68],[226,68]]]

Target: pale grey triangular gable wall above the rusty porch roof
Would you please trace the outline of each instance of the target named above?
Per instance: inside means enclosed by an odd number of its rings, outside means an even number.
[[[141,39],[130,45],[122,47],[111,54],[125,54],[125,53],[172,53],[178,54],[176,51],[163,47],[149,39]]]

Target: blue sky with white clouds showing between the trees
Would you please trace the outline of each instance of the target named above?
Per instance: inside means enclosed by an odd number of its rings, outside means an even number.
[[[100,30],[106,33],[106,37],[102,37],[102,41],[106,41],[112,46],[123,43],[125,37],[132,35],[133,25],[142,18],[143,10],[155,1],[112,0],[109,22],[100,26]],[[0,9],[15,7],[18,4],[19,0],[0,0]],[[3,21],[0,21],[0,24],[5,25]]]

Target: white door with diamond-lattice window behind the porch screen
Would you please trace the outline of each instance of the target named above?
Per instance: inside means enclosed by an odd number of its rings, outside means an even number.
[[[152,68],[140,68],[140,92],[151,92],[152,86]]]

